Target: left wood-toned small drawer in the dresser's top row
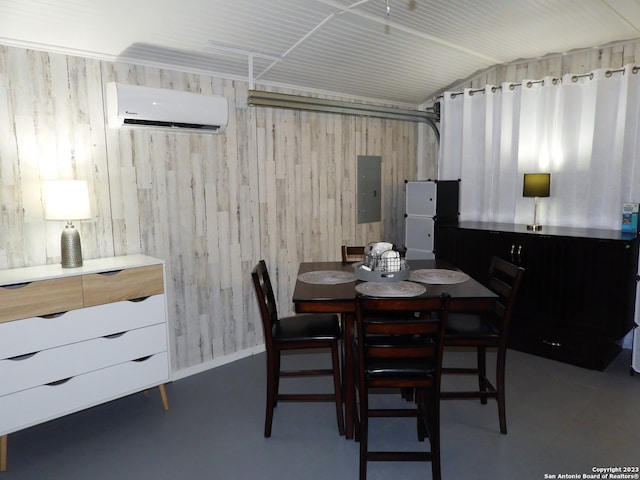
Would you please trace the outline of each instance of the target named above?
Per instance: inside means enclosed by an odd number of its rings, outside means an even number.
[[[82,277],[0,287],[0,322],[82,308]]]

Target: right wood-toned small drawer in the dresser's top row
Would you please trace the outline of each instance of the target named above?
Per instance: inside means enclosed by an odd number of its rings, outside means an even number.
[[[131,300],[164,292],[162,265],[82,276],[84,306]]]

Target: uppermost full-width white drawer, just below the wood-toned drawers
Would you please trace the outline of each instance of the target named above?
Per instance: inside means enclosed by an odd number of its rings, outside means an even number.
[[[124,301],[73,310],[55,318],[0,323],[0,359],[165,324],[164,302],[164,295],[154,295],[140,302]]]

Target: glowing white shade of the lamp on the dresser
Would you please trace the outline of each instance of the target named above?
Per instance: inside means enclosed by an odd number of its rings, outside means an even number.
[[[91,218],[89,189],[85,180],[49,180],[45,186],[47,220]]]

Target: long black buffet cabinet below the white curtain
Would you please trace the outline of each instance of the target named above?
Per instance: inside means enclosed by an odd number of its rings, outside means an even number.
[[[493,255],[524,267],[511,348],[604,370],[634,326],[636,235],[463,221],[436,225],[435,254],[485,284]]]

